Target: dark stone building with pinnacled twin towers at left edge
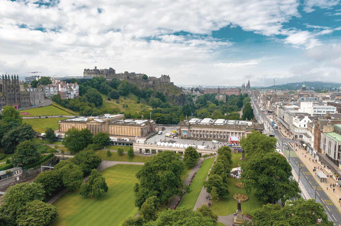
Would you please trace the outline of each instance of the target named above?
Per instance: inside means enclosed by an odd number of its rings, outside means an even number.
[[[5,105],[19,107],[29,107],[30,96],[26,91],[20,91],[19,76],[13,77],[5,74],[2,75],[2,80],[0,80],[0,107]]]

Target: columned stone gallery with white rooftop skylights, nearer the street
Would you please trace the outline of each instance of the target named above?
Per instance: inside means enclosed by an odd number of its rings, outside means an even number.
[[[226,119],[189,119],[178,124],[179,135],[187,139],[228,141],[230,136],[246,137],[253,130],[263,132],[263,124]]]

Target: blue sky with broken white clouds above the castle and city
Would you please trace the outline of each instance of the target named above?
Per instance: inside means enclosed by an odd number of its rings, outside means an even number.
[[[97,66],[178,86],[340,82],[340,1],[0,0],[0,73]]]

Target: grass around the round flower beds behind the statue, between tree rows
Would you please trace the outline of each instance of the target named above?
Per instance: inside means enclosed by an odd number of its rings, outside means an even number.
[[[246,161],[240,160],[240,158],[241,158],[241,153],[232,154],[232,161],[233,161],[232,168],[236,168],[237,164],[243,164],[246,162]],[[246,159],[248,158],[249,157],[246,156]],[[214,203],[214,210],[213,210],[214,214],[217,214],[219,216],[226,216],[236,211],[237,201],[235,201],[232,198],[232,196],[234,194],[246,194],[245,189],[237,188],[235,186],[235,184],[239,182],[241,182],[240,179],[234,179],[232,177],[228,178],[228,186],[229,186],[230,193],[227,198],[220,197],[219,201]],[[247,214],[247,213],[250,214],[251,210],[262,207],[262,205],[256,201],[254,197],[254,191],[252,191],[252,193],[249,194],[248,197],[249,197],[248,201],[241,203],[244,214]]]

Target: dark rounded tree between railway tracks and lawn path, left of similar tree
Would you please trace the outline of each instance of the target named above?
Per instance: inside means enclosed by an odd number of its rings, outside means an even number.
[[[55,192],[62,187],[61,174],[57,170],[41,172],[34,179],[34,182],[43,186],[45,191],[45,200],[48,200],[50,197],[52,197]]]

